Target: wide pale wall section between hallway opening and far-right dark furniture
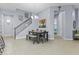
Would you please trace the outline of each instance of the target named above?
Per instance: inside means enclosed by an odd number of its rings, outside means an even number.
[[[73,20],[74,17],[72,6],[63,6],[62,11],[58,17],[58,35],[62,36],[64,40],[73,40]]]

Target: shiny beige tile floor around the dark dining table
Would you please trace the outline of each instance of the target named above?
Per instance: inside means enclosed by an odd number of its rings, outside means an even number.
[[[4,38],[5,51],[3,55],[71,55],[79,54],[79,40],[63,40],[55,38],[42,44],[33,44],[25,39],[14,40]]]

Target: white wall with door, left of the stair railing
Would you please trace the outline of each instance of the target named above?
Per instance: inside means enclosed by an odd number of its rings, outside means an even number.
[[[4,36],[13,36],[14,35],[14,27],[22,23],[22,21],[18,20],[18,15],[23,15],[24,13],[9,11],[9,10],[0,10],[2,19],[2,34]],[[7,19],[10,19],[11,22],[8,24],[6,22]],[[24,19],[25,20],[25,19]]]

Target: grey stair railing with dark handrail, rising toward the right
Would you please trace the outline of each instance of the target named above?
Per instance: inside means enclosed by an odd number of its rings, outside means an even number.
[[[16,35],[26,29],[32,23],[32,19],[28,18],[27,20],[23,21],[21,24],[14,28],[14,38],[16,39]]]

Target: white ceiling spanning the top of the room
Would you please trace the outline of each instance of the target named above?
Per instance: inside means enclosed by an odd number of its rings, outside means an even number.
[[[0,3],[0,8],[38,13],[50,6],[79,5],[78,3]]]

